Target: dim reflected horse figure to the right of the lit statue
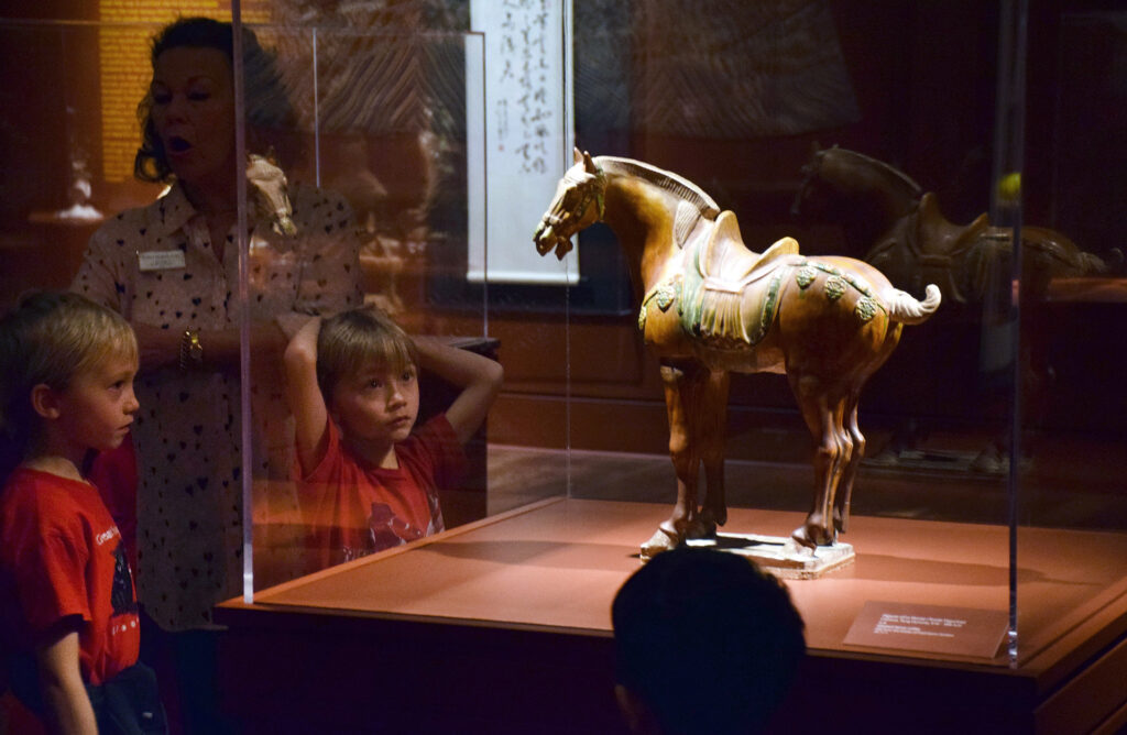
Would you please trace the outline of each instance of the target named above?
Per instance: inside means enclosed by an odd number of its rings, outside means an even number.
[[[999,268],[1009,274],[1010,229],[991,224],[985,213],[969,224],[948,221],[934,193],[884,161],[835,145],[815,149],[802,172],[792,213],[814,210],[837,221],[850,253],[875,265],[898,287],[919,293],[924,283],[939,283],[949,299],[977,303]],[[1022,228],[1021,245],[1028,292],[1033,295],[1044,294],[1054,277],[1109,269],[1100,257],[1048,228]],[[1009,282],[1009,276],[1004,280]]]

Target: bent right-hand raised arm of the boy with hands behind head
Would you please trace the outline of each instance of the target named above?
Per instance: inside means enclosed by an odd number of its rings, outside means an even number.
[[[415,337],[419,366],[462,389],[446,408],[446,419],[464,444],[489,414],[505,372],[500,363],[433,337]]]

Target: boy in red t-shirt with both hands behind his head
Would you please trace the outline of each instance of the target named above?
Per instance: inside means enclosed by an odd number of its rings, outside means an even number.
[[[461,388],[412,433],[418,371]],[[373,307],[313,319],[285,351],[299,497],[321,567],[443,530],[437,490],[455,487],[462,445],[500,390],[496,361],[411,339]]]

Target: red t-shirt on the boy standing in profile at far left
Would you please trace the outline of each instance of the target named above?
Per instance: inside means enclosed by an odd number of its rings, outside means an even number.
[[[74,616],[82,680],[100,684],[137,659],[141,630],[125,546],[87,482],[26,468],[0,495],[0,626],[5,646],[33,655]]]

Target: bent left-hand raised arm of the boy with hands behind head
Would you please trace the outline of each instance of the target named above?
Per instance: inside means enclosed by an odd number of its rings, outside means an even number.
[[[308,475],[323,459],[328,446],[328,408],[317,384],[317,336],[321,319],[310,319],[285,348],[286,401],[294,418],[294,437],[301,473]]]

